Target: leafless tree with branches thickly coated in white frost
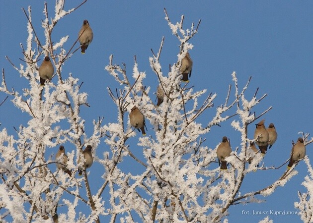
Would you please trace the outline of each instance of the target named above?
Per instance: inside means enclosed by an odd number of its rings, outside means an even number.
[[[248,138],[248,125],[271,109],[258,115],[254,112],[254,107],[267,95],[257,97],[256,89],[254,96],[247,100],[245,92],[251,77],[240,89],[234,72],[234,87],[229,86],[225,103],[214,107],[217,94],[207,93],[205,89],[194,92],[193,86],[183,83],[181,61],[193,47],[189,40],[197,33],[201,20],[196,26],[192,24],[190,29],[183,29],[184,16],[174,24],[165,9],[165,19],[180,45],[177,61],[169,66],[169,72],[161,69],[159,61],[164,38],[157,54],[152,50],[150,64],[164,92],[163,103],[159,107],[155,105],[152,87],[145,86],[146,74],[139,71],[136,56],[132,77],[127,74],[126,64],[114,64],[113,56],[110,56],[105,69],[121,86],[120,89],[108,88],[117,108],[117,121],[104,124],[103,118],[97,118],[93,122],[93,133],[88,136],[80,114],[83,105],[89,106],[87,93],[80,91],[78,78],[65,78],[62,72],[64,63],[79,47],[72,52],[75,42],[66,51],[63,45],[68,36],[55,41],[51,35],[58,21],[85,1],[67,11],[64,10],[64,3],[64,0],[56,2],[53,19],[49,19],[45,4],[46,19],[42,22],[45,41],[39,40],[37,30],[32,25],[31,8],[28,8],[28,13],[24,10],[28,20],[27,46],[24,49],[22,45],[24,65],[18,68],[7,57],[29,84],[22,89],[22,94],[14,89],[9,90],[2,70],[1,92],[12,97],[14,105],[30,116],[27,125],[16,129],[15,136],[7,134],[5,128],[0,133],[0,207],[5,210],[1,214],[3,220],[99,222],[108,216],[111,222],[133,222],[134,219],[142,222],[220,222],[228,215],[231,205],[257,202],[256,195],[270,195],[297,173],[294,169],[296,164],[279,179],[273,179],[271,185],[257,191],[251,188],[245,194],[239,193],[248,173],[253,174],[256,169],[275,168],[264,167],[264,164],[257,167],[262,163],[262,156],[251,153],[248,148],[249,142],[254,140]],[[36,46],[33,46],[34,43]],[[51,57],[56,71],[53,80],[57,79],[57,83],[46,81],[41,87],[37,62],[43,55]],[[235,92],[232,88],[235,88]],[[151,126],[148,136],[142,137],[130,126],[128,115],[134,105],[145,115],[147,125]],[[210,115],[207,111],[214,111],[215,114]],[[198,118],[204,114],[209,116],[205,124],[198,122]],[[236,149],[226,158],[229,169],[221,172],[216,162],[217,145],[207,144],[205,137],[212,127],[221,126],[228,119],[233,120],[232,126],[240,133],[241,144],[232,145],[233,150]],[[313,139],[308,139],[309,134],[304,134],[303,138],[307,145],[313,142]],[[97,150],[103,142],[109,151],[99,156]],[[60,161],[49,157],[52,148],[65,143],[76,148],[71,152],[66,150],[67,168],[73,171],[72,176],[55,170],[55,164]],[[86,170],[83,177],[78,177],[76,173],[78,167],[82,167],[77,165],[78,159],[83,159],[82,150],[87,145],[92,145],[95,162],[104,168],[103,173],[97,176],[99,181],[102,178],[104,182],[96,191],[90,189],[90,174]],[[142,149],[144,160],[131,152],[136,145]],[[209,146],[216,147],[210,149]],[[251,164],[247,163],[249,158],[253,158]],[[139,174],[121,167],[129,161],[134,166],[140,166]],[[308,157],[305,162],[312,170]],[[310,177],[304,182],[309,193],[299,193],[300,202],[297,203],[297,207],[303,211],[302,220],[307,222],[312,218]],[[105,192],[109,194],[108,199],[104,198]],[[85,210],[83,213],[78,212],[81,206]],[[269,221],[268,218],[265,221]]]

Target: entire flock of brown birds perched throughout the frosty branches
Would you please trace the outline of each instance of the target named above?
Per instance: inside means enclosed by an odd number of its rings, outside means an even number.
[[[92,29],[89,26],[89,23],[87,20],[83,20],[82,27],[78,33],[78,40],[80,43],[80,49],[81,53],[84,54],[85,50],[87,50],[89,44],[91,43],[93,39],[93,33]],[[187,52],[185,57],[181,61],[181,66],[180,66],[180,72],[182,73],[182,81],[184,82],[189,82],[188,75],[189,77],[191,76],[191,71],[192,71],[192,59],[190,58],[189,53]],[[44,61],[39,67],[39,77],[40,77],[40,84],[44,85],[46,80],[50,80],[54,74],[54,67],[50,61],[49,56],[45,56]],[[164,99],[164,92],[162,89],[161,85],[158,85],[157,87],[157,106],[160,106],[160,104],[163,102]],[[129,120],[130,124],[134,127],[137,128],[138,131],[142,131],[143,135],[146,135],[145,127],[146,127],[146,122],[145,122],[145,116],[144,114],[137,108],[135,105],[132,109],[131,112],[129,113]],[[254,142],[256,145],[259,147],[259,150],[261,151],[261,154],[264,156],[267,148],[269,149],[273,146],[273,144],[276,142],[277,139],[277,132],[275,129],[275,126],[273,123],[270,123],[268,128],[265,128],[264,125],[265,119],[261,120],[259,123],[256,124],[256,129],[254,132]],[[147,129],[147,127],[146,127]],[[254,153],[258,153],[258,150],[255,147],[255,144],[252,141],[250,143],[250,148],[253,150]],[[83,156],[85,159],[85,162],[83,164],[83,168],[88,168],[91,167],[93,159],[92,159],[92,147],[88,145],[84,150],[83,150]],[[219,164],[221,166],[222,170],[227,169],[227,162],[225,161],[225,158],[230,156],[232,153],[231,145],[226,136],[223,137],[222,142],[218,146],[217,150],[217,157],[219,159]],[[63,158],[61,158],[63,156]],[[297,162],[298,160],[303,159],[306,156],[306,146],[304,145],[304,140],[303,138],[298,138],[298,141],[296,144],[293,145],[292,150],[291,150],[291,157],[290,161],[288,164],[288,168],[292,167],[292,165]],[[72,175],[72,171],[69,170],[66,167],[67,163],[67,156],[65,154],[64,146],[60,146],[60,149],[56,155],[56,159],[59,160],[60,163],[57,163],[57,167],[59,169],[63,169],[65,172],[69,173]],[[251,160],[249,160],[251,162]],[[78,160],[79,163],[79,160]],[[82,170],[79,170],[79,174],[82,173]]]

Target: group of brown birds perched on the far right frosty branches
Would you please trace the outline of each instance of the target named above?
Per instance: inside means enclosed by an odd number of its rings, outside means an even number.
[[[256,154],[258,149],[255,147],[255,144],[259,147],[261,154],[264,156],[267,148],[269,149],[277,140],[277,132],[273,123],[270,123],[268,128],[265,128],[264,125],[265,119],[261,120],[259,123],[255,124],[256,129],[254,131],[254,141],[250,142],[250,149]],[[254,144],[255,142],[255,144]],[[222,142],[216,150],[217,157],[219,159],[219,165],[221,170],[227,169],[227,162],[225,158],[230,156],[232,153],[231,145],[226,136],[223,137]],[[291,156],[287,168],[289,169],[294,165],[295,162],[303,159],[306,156],[306,146],[304,145],[303,138],[299,137],[296,144],[293,145],[291,149]],[[248,162],[251,163],[253,158],[249,158]]]

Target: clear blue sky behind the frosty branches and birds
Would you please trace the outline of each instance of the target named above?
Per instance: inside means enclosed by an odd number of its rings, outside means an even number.
[[[50,16],[54,2],[49,2]],[[0,68],[5,69],[8,87],[17,91],[25,87],[25,81],[11,67],[4,56],[19,64],[23,58],[20,43],[25,45],[27,20],[21,7],[32,6],[33,22],[36,32],[43,40],[41,19],[44,19],[44,1],[0,1]],[[70,1],[66,9],[76,6]],[[63,67],[63,75],[72,72],[83,81],[81,90],[89,95],[90,108],[81,110],[86,120],[86,132],[92,133],[92,120],[104,116],[105,122],[116,121],[116,108],[108,96],[106,87],[119,87],[104,67],[109,56],[113,62],[127,64],[131,75],[134,55],[137,56],[140,71],[146,71],[147,85],[157,88],[157,77],[149,64],[150,49],[157,52],[162,36],[165,42],[160,58],[163,70],[173,64],[178,54],[178,40],[164,19],[163,8],[167,9],[173,23],[185,15],[184,27],[190,28],[192,22],[201,19],[199,32],[191,40],[194,45],[190,56],[194,61],[190,84],[195,90],[208,89],[218,94],[215,108],[224,103],[228,85],[233,84],[231,74],[237,73],[239,87],[243,87],[248,77],[252,80],[246,93],[251,98],[259,87],[258,95],[268,96],[256,106],[258,114],[273,106],[264,118],[266,126],[273,122],[278,132],[275,145],[264,158],[266,166],[280,166],[290,156],[291,140],[296,141],[299,131],[313,134],[313,2],[312,1],[87,1],[74,13],[60,20],[53,38],[58,41],[69,35],[65,49],[69,49],[77,39],[83,19],[87,19],[94,38],[85,55],[75,54]],[[5,98],[0,93],[0,102]],[[9,97],[9,99],[12,99]],[[209,111],[208,114],[214,114]],[[21,113],[7,100],[0,107],[2,129],[14,134],[13,126],[26,124],[28,114]],[[210,116],[202,116],[204,125]],[[233,120],[233,119],[232,119]],[[239,133],[230,123],[214,127],[206,136],[206,146],[215,148],[222,136],[227,135],[232,147],[238,145]],[[252,124],[253,125],[253,124]],[[249,126],[248,135],[253,137],[254,125]],[[148,133],[149,133],[149,126]],[[152,129],[150,131],[153,131]],[[307,155],[312,157],[312,145],[307,146]],[[108,150],[103,146],[103,150]],[[54,151],[51,150],[51,153]],[[138,153],[138,151],[137,151]],[[99,152],[98,156],[101,155]],[[257,171],[245,178],[242,191],[258,190],[274,182],[284,172],[286,166],[278,170]],[[242,211],[295,211],[298,191],[307,174],[306,166],[296,167],[299,174],[283,188],[278,188],[269,197],[261,197],[262,204],[236,205],[230,208],[230,222],[257,222],[266,215],[243,215]],[[90,171],[97,171],[96,166]],[[92,185],[97,188],[97,185]],[[270,215],[274,222],[301,222],[298,216]]]

